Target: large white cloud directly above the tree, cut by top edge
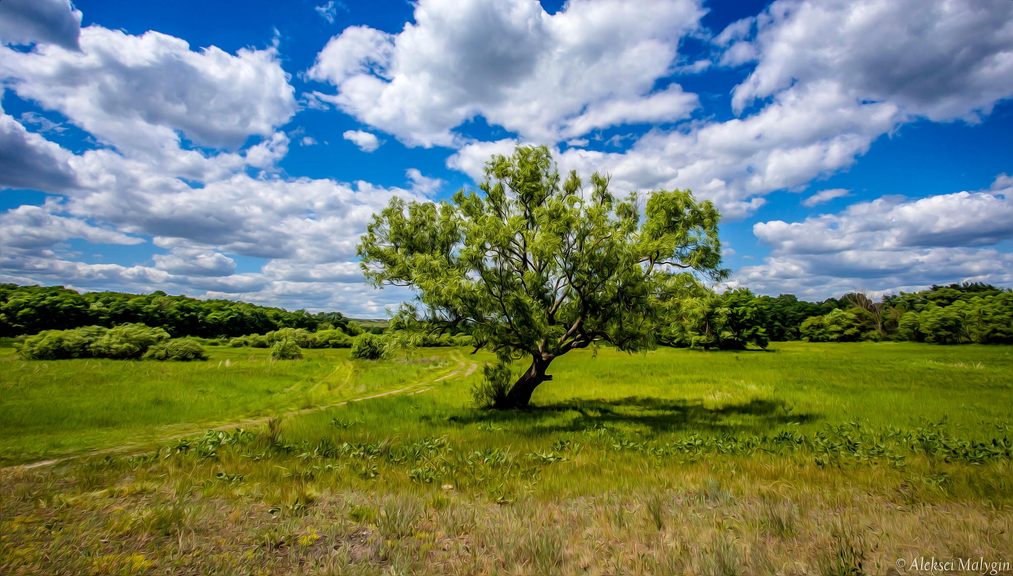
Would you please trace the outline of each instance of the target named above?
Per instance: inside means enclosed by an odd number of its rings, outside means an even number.
[[[350,26],[317,56],[316,93],[411,146],[448,146],[481,115],[558,142],[627,122],[672,121],[699,106],[670,74],[699,29],[696,0],[572,0],[550,15],[535,0],[421,0],[398,33]]]

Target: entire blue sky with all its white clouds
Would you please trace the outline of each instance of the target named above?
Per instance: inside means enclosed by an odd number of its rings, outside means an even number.
[[[1013,2],[0,2],[4,281],[380,316],[355,244],[550,146],[728,285],[1013,284]]]

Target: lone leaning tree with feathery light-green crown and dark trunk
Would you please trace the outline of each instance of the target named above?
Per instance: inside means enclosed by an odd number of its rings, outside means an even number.
[[[552,360],[570,350],[652,349],[696,274],[727,275],[718,212],[689,190],[650,192],[645,205],[635,192],[617,200],[597,172],[590,189],[575,171],[561,181],[544,146],[494,155],[485,177],[480,193],[462,189],[451,201],[392,198],[359,255],[368,281],[416,295],[392,329],[418,336],[465,328],[475,351],[499,358],[494,380],[510,360],[531,358],[492,395],[495,408],[527,406],[552,379]]]

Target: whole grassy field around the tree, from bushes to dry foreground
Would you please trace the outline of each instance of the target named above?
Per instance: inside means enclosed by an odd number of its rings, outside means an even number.
[[[1013,348],[772,349],[585,351],[553,362],[527,412],[471,408],[479,374],[458,372],[413,394],[163,442],[166,430],[399,390],[488,358],[352,362],[327,350],[270,364],[261,350],[209,349],[208,362],[89,374],[4,355],[5,462],[124,438],[150,448],[5,469],[0,565],[915,574],[898,560],[924,556],[1010,572]],[[226,377],[224,359],[252,382]],[[197,400],[149,408],[181,391]]]

